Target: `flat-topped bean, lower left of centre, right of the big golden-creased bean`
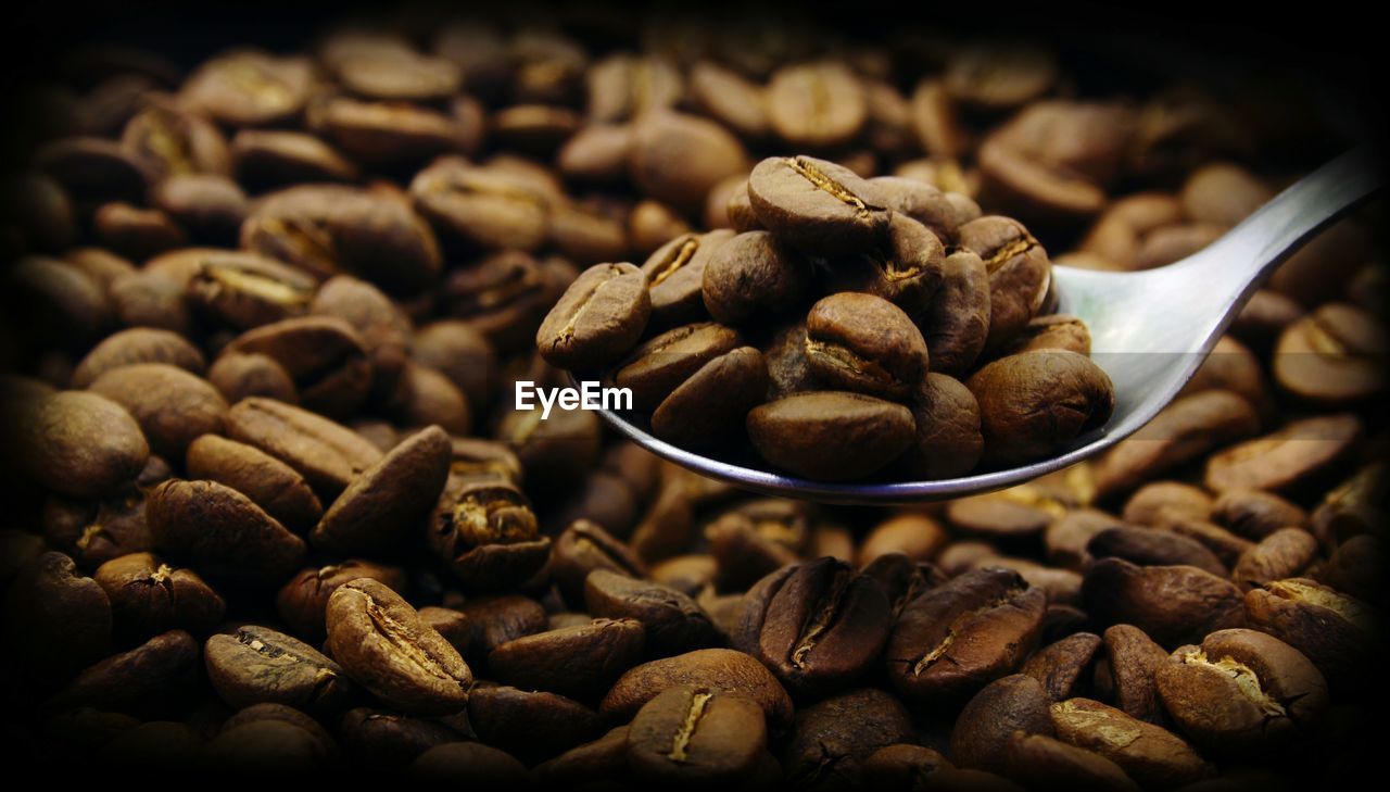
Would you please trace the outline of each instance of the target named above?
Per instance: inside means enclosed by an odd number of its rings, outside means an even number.
[[[514,638],[488,654],[488,667],[509,685],[594,702],[637,664],[644,646],[639,621],[595,618]]]

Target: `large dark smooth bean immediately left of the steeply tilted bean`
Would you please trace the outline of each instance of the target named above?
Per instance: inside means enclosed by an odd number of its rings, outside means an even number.
[[[213,481],[167,481],[146,502],[160,549],[214,579],[275,585],[295,571],[304,541],[235,489]]]

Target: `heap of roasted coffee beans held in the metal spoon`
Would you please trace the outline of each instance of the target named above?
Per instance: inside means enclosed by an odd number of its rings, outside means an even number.
[[[812,479],[1023,464],[1109,420],[1086,322],[1045,311],[1052,265],[1020,222],[805,156],[759,163],[728,215],[738,233],[587,270],[537,332],[545,360],[606,368],[660,439],[751,440]]]

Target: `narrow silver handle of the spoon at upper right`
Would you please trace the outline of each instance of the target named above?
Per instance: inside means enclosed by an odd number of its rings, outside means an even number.
[[[1352,149],[1290,185],[1175,268],[1202,268],[1209,278],[1219,261],[1222,279],[1244,297],[1305,240],[1383,188],[1382,165],[1369,146]]]

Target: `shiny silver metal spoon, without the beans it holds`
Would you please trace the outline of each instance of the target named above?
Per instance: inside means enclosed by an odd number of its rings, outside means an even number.
[[[1115,383],[1105,427],[1059,456],[959,478],[905,482],[823,482],[778,474],[673,446],[652,436],[644,415],[600,410],[614,429],[698,474],[764,495],[824,503],[890,504],[979,495],[1034,479],[1133,435],[1177,396],[1241,306],[1275,268],[1383,185],[1380,163],[1355,149],[1275,196],[1205,249],[1166,267],[1111,272],[1054,267],[1058,313],[1091,331],[1091,358]]]

